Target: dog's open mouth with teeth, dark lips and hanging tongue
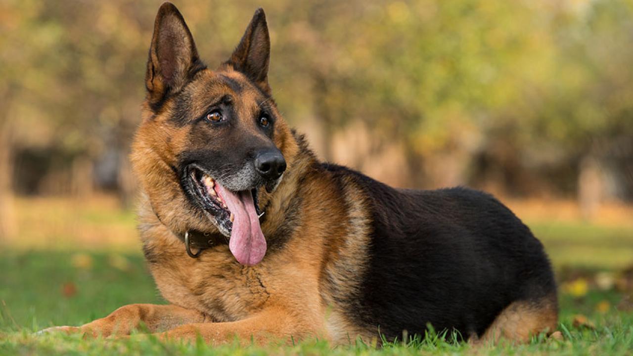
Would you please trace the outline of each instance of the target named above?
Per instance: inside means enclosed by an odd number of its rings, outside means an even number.
[[[185,174],[192,198],[229,237],[229,249],[237,262],[260,263],[266,254],[266,239],[261,232],[257,188],[230,191],[195,166],[187,167]]]

